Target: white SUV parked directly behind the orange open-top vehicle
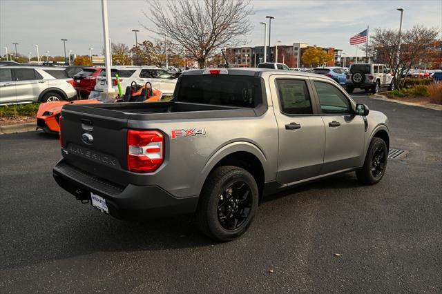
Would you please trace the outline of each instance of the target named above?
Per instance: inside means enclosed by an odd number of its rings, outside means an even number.
[[[115,66],[111,68],[113,88],[117,89],[117,79],[115,74],[119,75],[119,83],[122,88],[130,86],[132,81],[137,84],[146,84],[150,82],[152,87],[160,90],[163,96],[171,97],[177,79],[166,70],[155,66]],[[106,88],[106,70],[102,70],[97,77],[95,91],[103,92]]]

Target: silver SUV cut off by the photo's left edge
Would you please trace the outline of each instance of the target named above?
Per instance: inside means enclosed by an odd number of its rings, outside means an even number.
[[[65,68],[2,66],[0,105],[70,100],[77,97]]]

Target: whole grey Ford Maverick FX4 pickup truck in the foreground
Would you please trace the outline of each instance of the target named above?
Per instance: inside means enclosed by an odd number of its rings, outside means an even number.
[[[195,213],[219,241],[247,230],[265,195],[356,171],[385,173],[387,117],[323,75],[268,69],[184,72],[173,100],[68,104],[55,180],[118,218]]]

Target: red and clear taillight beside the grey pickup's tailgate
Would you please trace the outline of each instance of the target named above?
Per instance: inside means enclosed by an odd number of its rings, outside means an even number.
[[[164,137],[157,130],[128,130],[127,169],[153,173],[164,161]]]

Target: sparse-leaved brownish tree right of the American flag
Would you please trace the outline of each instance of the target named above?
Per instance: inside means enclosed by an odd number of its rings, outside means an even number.
[[[386,63],[394,72],[394,86],[403,88],[405,75],[414,66],[425,66],[437,54],[436,40],[438,28],[425,28],[420,25],[405,30],[398,35],[397,30],[374,29],[368,52],[378,63]],[[399,41],[401,41],[399,43]]]

